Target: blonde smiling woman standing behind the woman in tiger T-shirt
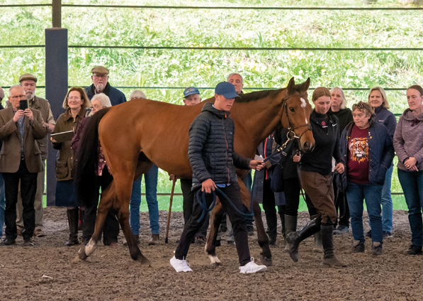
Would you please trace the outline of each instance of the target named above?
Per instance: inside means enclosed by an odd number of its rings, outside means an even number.
[[[385,90],[381,87],[373,87],[368,92],[367,102],[375,110],[373,120],[379,124],[383,124],[388,128],[390,136],[393,138],[395,128],[397,127],[397,119],[395,115],[388,111],[389,103],[386,97]],[[392,221],[393,221],[393,202],[390,195],[390,185],[392,182],[392,173],[394,165],[386,170],[385,184],[382,190],[382,224],[383,224],[383,238],[392,237]],[[370,224],[370,221],[369,221]],[[366,236],[371,237],[371,230],[367,232]]]

